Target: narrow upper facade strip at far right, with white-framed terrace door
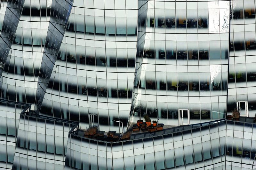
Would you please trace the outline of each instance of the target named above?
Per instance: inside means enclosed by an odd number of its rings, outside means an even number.
[[[256,101],[254,4],[231,1],[227,111],[237,107],[246,117],[254,117]]]

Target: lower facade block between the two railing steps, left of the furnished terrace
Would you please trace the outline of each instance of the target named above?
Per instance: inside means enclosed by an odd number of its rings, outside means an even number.
[[[75,123],[20,115],[12,169],[63,169],[68,132]]]

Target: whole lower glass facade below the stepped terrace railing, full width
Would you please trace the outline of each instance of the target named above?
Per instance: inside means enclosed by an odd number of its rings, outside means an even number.
[[[85,138],[77,123],[40,116],[30,105],[1,103],[1,117],[7,123],[1,123],[1,141],[6,140],[0,144],[1,168],[249,170],[256,166],[255,123],[220,120],[106,142]]]

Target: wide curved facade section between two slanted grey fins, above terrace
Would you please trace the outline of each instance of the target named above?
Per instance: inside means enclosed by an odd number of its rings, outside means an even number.
[[[137,42],[138,2],[74,2],[40,112],[100,129],[127,125]],[[120,127],[121,129],[121,127]],[[118,130],[119,131],[119,130]]]

